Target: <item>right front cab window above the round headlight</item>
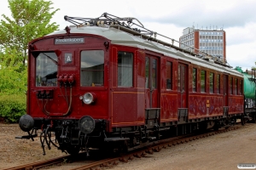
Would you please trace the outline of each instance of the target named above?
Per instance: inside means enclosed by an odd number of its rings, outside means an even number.
[[[104,52],[87,50],[81,52],[80,84],[85,87],[103,86]]]

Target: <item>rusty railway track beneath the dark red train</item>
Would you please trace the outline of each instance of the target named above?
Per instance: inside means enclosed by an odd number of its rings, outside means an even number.
[[[143,156],[146,156],[147,154],[153,154],[154,152],[159,152],[162,149],[166,149],[168,147],[172,147],[177,144],[183,144],[183,143],[187,143],[192,140],[206,138],[206,137],[218,134],[218,133],[225,133],[225,132],[228,132],[231,130],[236,130],[237,128],[240,128],[240,127],[241,126],[235,125],[233,127],[229,127],[226,129],[219,129],[218,131],[201,133],[201,134],[197,134],[197,135],[189,134],[189,135],[185,135],[185,136],[181,136],[181,137],[175,137],[172,139],[163,139],[163,140],[154,142],[153,145],[145,146],[141,150],[131,151],[130,153],[123,154],[121,156],[116,156],[113,158],[107,158],[107,159],[102,158],[99,161],[92,161],[92,162],[86,163],[85,165],[82,165],[82,166],[73,167],[72,170],[81,170],[81,169],[90,169],[91,170],[91,169],[101,169],[102,167],[108,167],[108,168],[113,167],[113,166],[117,165],[119,163],[119,161],[128,162],[130,160],[133,160],[134,157],[141,158]],[[43,167],[50,167],[50,166],[54,166],[57,164],[62,164],[63,166],[65,166],[67,163],[67,160],[70,160],[70,159],[71,159],[71,156],[69,156],[69,155],[61,156],[61,157],[47,160],[47,161],[38,161],[38,162],[29,163],[26,165],[21,165],[18,167],[11,167],[11,168],[7,168],[5,170],[17,170],[17,169],[32,170],[32,169],[40,169]]]

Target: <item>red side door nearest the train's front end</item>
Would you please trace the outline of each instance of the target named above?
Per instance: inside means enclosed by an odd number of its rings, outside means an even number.
[[[145,59],[145,98],[146,108],[159,107],[159,59],[146,55]]]

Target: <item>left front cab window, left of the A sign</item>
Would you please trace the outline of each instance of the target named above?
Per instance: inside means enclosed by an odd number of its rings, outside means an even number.
[[[58,57],[54,52],[40,53],[36,59],[36,86],[57,86]]]

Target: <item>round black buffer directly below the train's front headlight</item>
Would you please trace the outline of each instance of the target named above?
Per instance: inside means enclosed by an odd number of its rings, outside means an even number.
[[[79,120],[79,129],[82,133],[92,133],[95,128],[95,120],[91,116],[83,116]]]

